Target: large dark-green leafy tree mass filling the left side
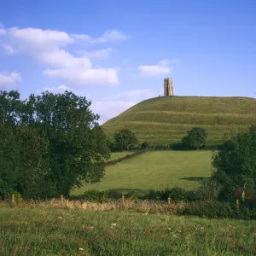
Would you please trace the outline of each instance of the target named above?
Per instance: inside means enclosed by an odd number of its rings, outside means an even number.
[[[100,181],[109,148],[90,102],[68,91],[31,95],[25,102],[19,96],[11,105],[9,94],[0,94],[3,137],[9,134],[0,142],[0,186],[10,188],[4,193],[15,189],[26,198],[51,198],[68,195],[82,181]],[[18,174],[8,181],[6,172]]]

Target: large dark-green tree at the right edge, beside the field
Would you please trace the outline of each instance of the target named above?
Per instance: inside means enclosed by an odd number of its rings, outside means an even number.
[[[256,133],[240,133],[224,142],[212,157],[212,178],[222,185],[221,198],[235,201],[256,189]]]

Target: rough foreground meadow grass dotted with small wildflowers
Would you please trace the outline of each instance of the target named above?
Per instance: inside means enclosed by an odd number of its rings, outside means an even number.
[[[254,221],[0,208],[1,255],[254,255]]]

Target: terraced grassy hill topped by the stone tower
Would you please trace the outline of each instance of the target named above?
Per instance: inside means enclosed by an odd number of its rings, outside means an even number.
[[[208,145],[221,143],[256,123],[256,100],[248,97],[160,96],[138,103],[102,125],[108,136],[120,129],[135,132],[140,143],[179,143],[200,126]]]

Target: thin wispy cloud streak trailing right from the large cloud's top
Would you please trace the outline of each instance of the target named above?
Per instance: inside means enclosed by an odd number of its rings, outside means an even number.
[[[75,39],[83,40],[89,44],[103,44],[113,41],[124,41],[127,39],[127,36],[118,30],[108,30],[104,32],[100,38],[91,38],[87,34],[73,34],[72,37]]]

